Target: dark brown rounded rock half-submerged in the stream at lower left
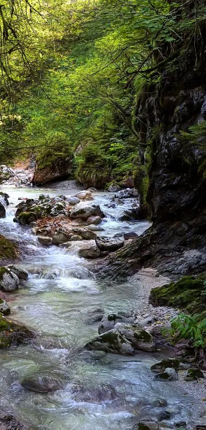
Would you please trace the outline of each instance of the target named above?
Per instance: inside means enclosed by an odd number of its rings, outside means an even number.
[[[21,385],[36,393],[50,393],[63,388],[61,381],[52,375],[27,376],[21,381]]]

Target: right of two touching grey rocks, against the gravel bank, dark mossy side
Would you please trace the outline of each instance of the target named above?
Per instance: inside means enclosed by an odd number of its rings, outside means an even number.
[[[115,329],[125,336],[136,349],[146,352],[156,351],[156,346],[150,333],[141,329],[138,325],[118,322],[115,324]]]

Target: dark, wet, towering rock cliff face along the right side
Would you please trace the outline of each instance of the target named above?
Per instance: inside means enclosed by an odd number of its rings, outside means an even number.
[[[153,226],[106,260],[112,276],[142,265],[173,278],[206,269],[206,131],[197,139],[180,133],[206,120],[205,46],[203,33],[198,51],[191,47],[184,66],[163,71],[161,83],[145,88],[136,106],[140,142],[152,141]]]

